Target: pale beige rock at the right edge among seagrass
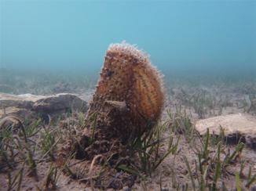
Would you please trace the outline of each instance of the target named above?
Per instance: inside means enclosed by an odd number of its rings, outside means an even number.
[[[200,135],[206,134],[207,128],[214,135],[219,135],[223,128],[228,142],[242,140],[256,149],[256,117],[250,114],[230,114],[196,121],[196,130]]]

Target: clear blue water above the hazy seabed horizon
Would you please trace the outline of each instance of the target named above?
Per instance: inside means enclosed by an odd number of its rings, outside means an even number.
[[[0,67],[98,74],[123,40],[175,74],[256,76],[256,1],[0,0]]]

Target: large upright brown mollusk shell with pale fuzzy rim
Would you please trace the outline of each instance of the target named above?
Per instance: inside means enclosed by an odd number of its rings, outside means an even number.
[[[138,128],[136,132],[145,132],[149,123],[158,121],[163,102],[162,75],[148,56],[124,42],[109,45],[89,113],[102,112],[105,103],[110,103],[121,111],[126,109],[120,126],[131,124]],[[120,121],[120,117],[111,120]]]

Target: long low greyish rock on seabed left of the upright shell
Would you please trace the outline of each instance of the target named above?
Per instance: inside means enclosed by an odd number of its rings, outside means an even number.
[[[14,114],[18,117],[60,114],[67,110],[86,112],[87,103],[73,94],[12,95],[0,93],[0,117]]]

